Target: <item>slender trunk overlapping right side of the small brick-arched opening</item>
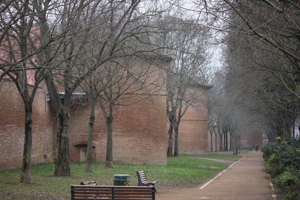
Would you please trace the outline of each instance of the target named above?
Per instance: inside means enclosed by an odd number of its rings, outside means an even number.
[[[86,150],[86,166],[85,171],[93,171],[93,159],[92,159],[92,150],[93,150],[93,130],[95,122],[95,100],[89,99],[90,102],[90,121],[88,122],[88,146]]]

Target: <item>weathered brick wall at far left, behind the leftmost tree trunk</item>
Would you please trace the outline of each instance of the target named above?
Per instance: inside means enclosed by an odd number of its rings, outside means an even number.
[[[12,81],[0,84],[0,169],[22,166],[24,104]],[[33,102],[32,164],[52,162],[52,111],[46,89],[39,88]]]

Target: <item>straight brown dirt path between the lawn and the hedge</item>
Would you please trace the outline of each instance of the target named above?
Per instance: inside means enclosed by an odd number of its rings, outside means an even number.
[[[195,186],[195,189],[161,188],[156,192],[155,199],[274,200],[267,174],[263,170],[262,153],[250,152],[245,155],[203,189],[199,189],[201,186]]]

